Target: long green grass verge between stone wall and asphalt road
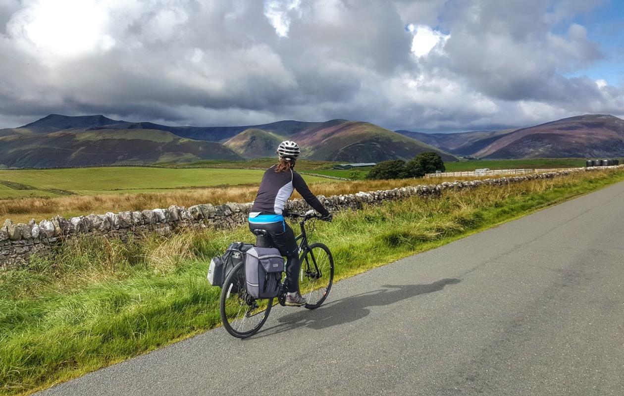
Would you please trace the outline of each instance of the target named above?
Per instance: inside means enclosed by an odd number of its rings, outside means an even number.
[[[328,244],[342,279],[622,180],[624,171],[602,171],[447,191],[341,213],[311,241]],[[251,234],[82,238],[29,270],[0,272],[0,394],[28,394],[218,326],[220,289],[205,272],[232,240]]]

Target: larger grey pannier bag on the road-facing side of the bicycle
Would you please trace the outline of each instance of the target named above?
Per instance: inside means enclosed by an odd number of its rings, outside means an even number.
[[[245,254],[247,292],[255,298],[273,298],[280,291],[284,258],[276,248],[251,248]]]

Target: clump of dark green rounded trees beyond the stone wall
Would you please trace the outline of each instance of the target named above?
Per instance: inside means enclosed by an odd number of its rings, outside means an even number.
[[[425,173],[444,171],[442,158],[434,152],[420,153],[411,160],[389,160],[380,162],[371,169],[368,179],[404,179],[422,177]]]

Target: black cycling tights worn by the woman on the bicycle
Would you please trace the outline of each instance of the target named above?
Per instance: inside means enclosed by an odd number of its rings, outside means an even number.
[[[286,287],[288,287],[289,292],[299,291],[301,263],[293,229],[283,222],[263,225],[250,223],[249,229],[256,235],[256,246],[258,248],[270,248],[271,241],[266,241],[264,236],[256,234],[254,230],[263,229],[271,235],[273,247],[278,248],[282,256],[286,256]]]

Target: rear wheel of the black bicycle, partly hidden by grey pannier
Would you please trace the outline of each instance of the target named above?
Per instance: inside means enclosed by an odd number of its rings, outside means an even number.
[[[273,299],[255,299],[245,286],[245,263],[235,266],[223,282],[219,309],[223,327],[232,336],[246,338],[256,334],[266,322]]]

